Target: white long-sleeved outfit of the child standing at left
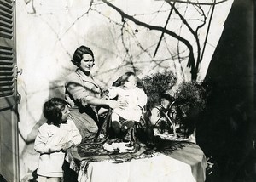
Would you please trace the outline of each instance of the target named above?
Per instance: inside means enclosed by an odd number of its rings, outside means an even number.
[[[71,120],[61,123],[60,127],[53,124],[44,123],[38,129],[34,149],[40,153],[38,162],[38,175],[46,177],[63,177],[62,165],[65,152],[61,150],[61,145],[73,141],[74,145],[79,145],[82,137],[79,130]]]

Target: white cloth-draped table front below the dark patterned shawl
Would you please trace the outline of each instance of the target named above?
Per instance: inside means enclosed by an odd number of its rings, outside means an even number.
[[[78,159],[75,151],[70,152],[70,156]],[[154,152],[129,162],[105,160],[86,165],[87,160],[79,160],[79,182],[201,182],[206,179],[207,160],[194,143],[185,142],[175,151]]]

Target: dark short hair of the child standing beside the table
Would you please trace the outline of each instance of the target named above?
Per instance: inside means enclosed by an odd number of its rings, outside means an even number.
[[[67,102],[61,98],[52,98],[44,103],[44,117],[47,119],[48,123],[53,123],[55,126],[61,124],[61,117]]]

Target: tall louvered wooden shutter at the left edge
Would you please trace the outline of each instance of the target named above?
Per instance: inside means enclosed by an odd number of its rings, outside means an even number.
[[[15,1],[0,0],[0,177],[14,182],[20,175],[16,78]]]

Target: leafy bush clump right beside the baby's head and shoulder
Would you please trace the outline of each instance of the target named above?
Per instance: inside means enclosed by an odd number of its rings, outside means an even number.
[[[159,103],[160,95],[171,90],[177,83],[177,77],[172,71],[163,71],[151,74],[142,79],[143,87],[148,95],[148,109]]]

